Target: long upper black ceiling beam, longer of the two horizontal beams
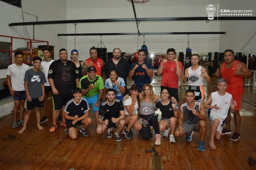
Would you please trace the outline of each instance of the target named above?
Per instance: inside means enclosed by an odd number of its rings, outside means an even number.
[[[164,17],[164,18],[112,18],[112,19],[75,19],[75,20],[52,20],[37,22],[9,23],[9,26],[27,26],[44,24],[70,24],[70,23],[101,23],[101,22],[151,22],[151,21],[208,21],[207,17]],[[213,20],[217,20],[215,17]],[[218,17],[218,20],[256,20],[256,17]],[[210,20],[211,21],[211,20]]]

